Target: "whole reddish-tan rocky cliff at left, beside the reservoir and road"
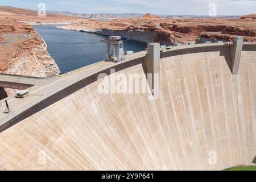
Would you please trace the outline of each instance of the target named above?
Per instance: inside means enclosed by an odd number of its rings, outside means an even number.
[[[48,77],[59,75],[59,67],[47,52],[44,40],[30,25],[10,18],[0,19],[0,72],[14,75]],[[0,90],[2,97],[6,93]],[[6,89],[7,94],[14,91]]]

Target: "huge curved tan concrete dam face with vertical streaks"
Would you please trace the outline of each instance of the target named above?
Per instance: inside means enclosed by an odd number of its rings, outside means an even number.
[[[160,93],[98,93],[90,81],[0,133],[0,169],[221,170],[256,155],[256,48],[238,75],[228,47],[160,60]],[[143,64],[118,70],[143,74]],[[109,75],[108,77],[111,77]],[[55,97],[61,97],[61,92]]]

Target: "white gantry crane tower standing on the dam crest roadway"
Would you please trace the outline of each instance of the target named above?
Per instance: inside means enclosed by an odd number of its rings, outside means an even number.
[[[109,39],[101,40],[107,43],[107,53],[105,61],[123,61],[125,60],[125,52],[123,51],[123,42],[121,36],[109,36]]]

